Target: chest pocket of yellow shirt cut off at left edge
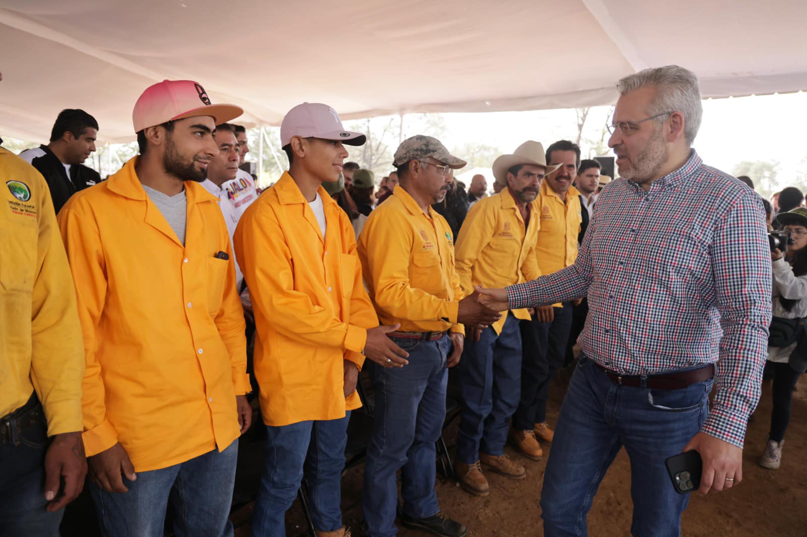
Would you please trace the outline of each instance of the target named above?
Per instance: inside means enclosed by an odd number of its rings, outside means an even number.
[[[36,218],[20,215],[18,219],[21,222],[11,226],[7,221],[2,223],[5,229],[0,234],[0,285],[6,291],[31,293],[38,247]]]

